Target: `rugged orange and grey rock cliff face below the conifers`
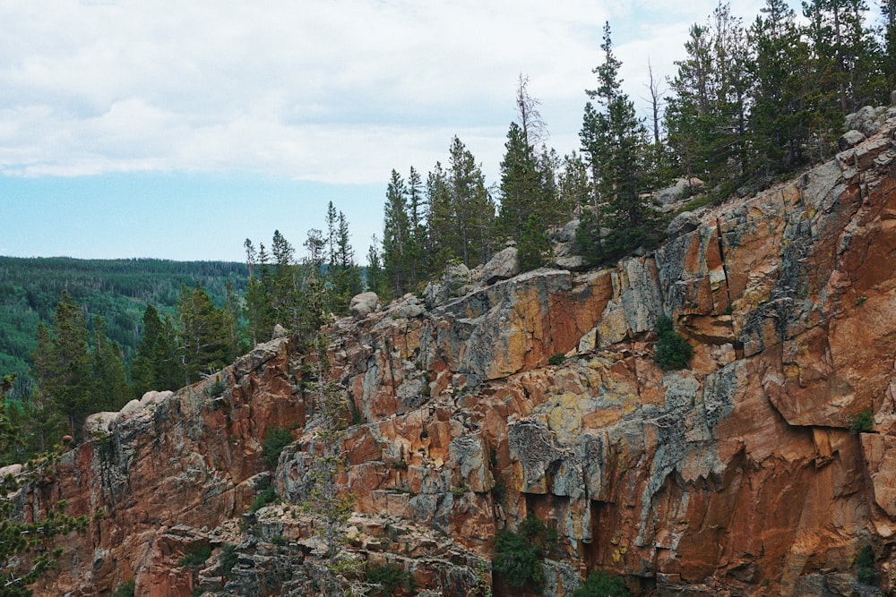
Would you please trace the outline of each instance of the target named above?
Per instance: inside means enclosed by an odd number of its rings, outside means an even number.
[[[560,535],[546,594],[601,567],[636,593],[849,595],[866,545],[888,586],[894,126],[616,268],[446,280],[429,304],[336,321],[332,375],[358,422],[340,478],[356,496],[351,550],[404,567],[420,594],[462,595],[495,533],[532,512]],[[664,313],[694,346],[687,370],[652,360]],[[97,417],[98,439],[22,496],[29,512],[49,497],[102,509],[38,593],[103,594],[134,576],[139,595],[313,586],[314,542],[290,506],[314,448],[301,358],[275,340],[222,371],[219,397],[209,380]],[[874,432],[851,435],[866,409]],[[287,504],[240,516],[269,478],[271,427],[301,439],[272,473]],[[239,546],[226,578],[214,558],[179,565],[225,542]]]

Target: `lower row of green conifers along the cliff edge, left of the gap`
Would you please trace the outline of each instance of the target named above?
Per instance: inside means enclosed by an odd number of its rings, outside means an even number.
[[[110,336],[103,317],[62,290],[50,321],[36,323],[31,332],[28,372],[33,383],[4,406],[21,441],[0,461],[22,462],[65,435],[80,440],[90,414],[117,411],[146,391],[176,390],[213,376],[255,344],[271,339],[278,324],[300,341],[315,337],[330,313],[347,313],[350,298],[364,289],[348,221],[332,203],[326,227],[325,232],[308,232],[301,260],[279,231],[270,248],[261,243],[256,249],[246,239],[247,262],[237,269],[247,274],[245,290],[238,291],[228,277],[215,277],[216,286],[223,283],[220,306],[195,281],[181,284],[170,308],[144,303],[134,325],[133,358]],[[82,269],[84,279],[101,276],[90,267]],[[215,272],[226,270],[217,266]],[[100,281],[95,294],[110,284]],[[82,295],[96,303],[93,294]]]

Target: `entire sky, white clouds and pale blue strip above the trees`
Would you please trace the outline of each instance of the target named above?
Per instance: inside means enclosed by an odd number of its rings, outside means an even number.
[[[392,169],[456,135],[497,183],[521,75],[578,149],[605,21],[646,116],[648,64],[716,4],[0,0],[0,255],[245,260],[274,230],[301,254],[332,201],[364,262]]]

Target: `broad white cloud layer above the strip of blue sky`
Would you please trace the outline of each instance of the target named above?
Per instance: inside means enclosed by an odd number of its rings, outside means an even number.
[[[643,36],[617,52],[637,97],[647,57],[670,72],[688,19],[714,4],[683,15],[671,0],[4,3],[0,172],[376,183],[444,160],[455,133],[494,172],[520,72],[553,144],[575,149],[603,22]]]

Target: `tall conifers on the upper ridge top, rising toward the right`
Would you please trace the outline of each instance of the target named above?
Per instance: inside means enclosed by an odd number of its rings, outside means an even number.
[[[719,3],[685,40],[676,73],[650,71],[650,116],[621,89],[609,25],[596,88],[582,115],[580,147],[558,158],[525,77],[516,93],[501,162],[488,185],[455,137],[446,166],[426,178],[411,167],[387,187],[383,241],[370,248],[381,294],[418,291],[446,264],[472,268],[506,243],[522,269],[547,260],[548,226],[578,217],[578,251],[611,263],[659,242],[665,225],[653,192],[684,179],[703,202],[831,158],[844,115],[889,103],[896,88],[896,0],[806,0],[803,19],[786,0],[766,0],[754,21]]]

